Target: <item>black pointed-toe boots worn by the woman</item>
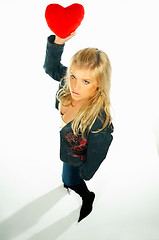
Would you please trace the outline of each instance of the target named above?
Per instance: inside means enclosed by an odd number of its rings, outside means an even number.
[[[71,187],[68,187],[64,184],[64,187],[74,190],[82,198],[82,207],[78,219],[78,222],[80,222],[83,218],[87,217],[91,213],[95,194],[88,190],[84,180],[82,180],[80,184]]]

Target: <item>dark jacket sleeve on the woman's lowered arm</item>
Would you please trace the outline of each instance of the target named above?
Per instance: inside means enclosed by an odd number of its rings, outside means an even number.
[[[81,168],[81,177],[90,180],[106,158],[113,140],[111,130],[106,128],[99,133],[90,133],[87,148],[87,159]]]

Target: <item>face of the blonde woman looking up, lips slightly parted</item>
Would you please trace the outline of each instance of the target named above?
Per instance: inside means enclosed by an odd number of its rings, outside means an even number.
[[[91,77],[91,70],[73,65],[70,71],[70,92],[75,101],[88,101],[97,91],[97,80]]]

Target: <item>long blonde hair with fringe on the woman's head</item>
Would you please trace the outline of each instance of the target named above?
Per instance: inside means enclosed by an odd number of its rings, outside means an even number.
[[[88,133],[90,132],[97,117],[100,118],[103,126],[97,129],[96,132],[103,130],[112,121],[110,111],[111,64],[106,53],[96,48],[84,48],[75,53],[67,69],[65,84],[57,94],[60,104],[66,100],[69,104],[72,102],[69,79],[70,71],[74,64],[80,68],[90,69],[92,76],[97,80],[99,86],[94,96],[80,108],[72,122],[74,134],[77,136],[81,133],[84,136],[86,129]],[[106,117],[104,119],[101,115],[101,110],[105,112]]]

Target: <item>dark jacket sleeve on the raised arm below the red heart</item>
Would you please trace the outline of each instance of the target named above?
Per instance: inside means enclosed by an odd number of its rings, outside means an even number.
[[[60,81],[66,74],[67,67],[61,64],[61,55],[64,44],[54,44],[55,36],[51,35],[47,39],[46,56],[44,62],[45,72],[54,80]]]

